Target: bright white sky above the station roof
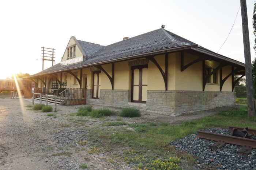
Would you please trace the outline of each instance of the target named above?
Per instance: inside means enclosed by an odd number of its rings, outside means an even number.
[[[251,59],[255,58],[253,0],[247,0]],[[0,79],[42,71],[41,47],[61,61],[71,36],[109,45],[161,28],[217,52],[234,23],[240,0],[12,0],[0,6]],[[244,63],[241,11],[219,54]],[[45,61],[45,68],[52,62]]]

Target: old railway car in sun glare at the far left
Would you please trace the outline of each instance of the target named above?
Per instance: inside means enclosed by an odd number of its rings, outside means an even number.
[[[14,79],[0,79],[0,92],[20,90],[24,93],[25,90],[35,87],[35,82],[30,79],[17,79],[17,83],[18,85]]]

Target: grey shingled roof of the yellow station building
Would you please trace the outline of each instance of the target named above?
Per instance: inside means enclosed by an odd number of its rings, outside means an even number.
[[[68,70],[68,69],[86,66],[88,64],[93,64],[98,62],[105,62],[112,59],[120,59],[127,56],[144,54],[146,52],[154,52],[154,51],[163,50],[167,48],[174,48],[174,47],[180,47],[180,46],[186,46],[186,45],[196,45],[192,41],[184,39],[163,28],[160,28],[151,32],[147,32],[135,37],[131,37],[131,38],[119,41],[117,43],[110,44],[108,46],[100,46],[98,44],[89,43],[89,42],[80,41],[80,40],[78,40],[78,42],[80,46],[83,48],[84,52],[86,53],[86,60],[80,63],[70,64],[67,66],[60,66],[60,63],[58,63],[50,68],[47,68],[44,71],[31,75],[30,77],[46,74],[50,72]],[[203,47],[198,47],[198,48],[203,48]]]

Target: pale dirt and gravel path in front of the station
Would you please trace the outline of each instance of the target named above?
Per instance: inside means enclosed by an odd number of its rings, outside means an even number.
[[[28,101],[0,98],[0,169],[80,169],[86,163],[88,169],[131,169],[122,161],[113,163],[111,153],[104,147],[97,153],[92,152],[93,140],[86,129],[102,123],[99,119],[74,118],[69,116],[79,106],[57,106],[57,118],[46,113],[27,110]],[[93,106],[101,108],[102,106]],[[118,111],[119,108],[109,107]],[[214,115],[223,109],[197,112],[182,116],[159,115],[142,112],[140,118],[123,118],[126,122],[166,122],[176,124],[185,120]],[[77,116],[75,116],[77,117]],[[109,116],[108,121],[118,118]],[[86,141],[86,145],[83,145]],[[101,141],[99,141],[101,142]],[[55,155],[54,155],[55,154]]]

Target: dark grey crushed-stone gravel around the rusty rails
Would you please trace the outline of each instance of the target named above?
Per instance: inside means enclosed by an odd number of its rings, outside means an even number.
[[[203,129],[202,131],[231,134],[228,129]],[[215,141],[197,138],[196,134],[191,134],[171,142],[170,145],[180,151],[187,151],[195,155],[198,158],[197,169],[202,169],[204,165],[216,165],[219,169],[256,169],[256,149],[252,149],[251,154],[245,157],[237,154],[237,150],[241,146],[226,144],[219,150],[210,149],[210,145],[214,143]]]

